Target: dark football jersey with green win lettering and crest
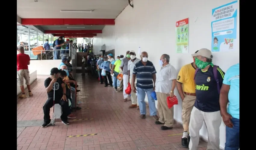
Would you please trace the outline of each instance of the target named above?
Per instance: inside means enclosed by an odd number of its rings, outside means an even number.
[[[224,75],[225,73],[220,68],[217,68],[220,88]],[[194,106],[203,112],[219,111],[220,95],[217,89],[217,82],[214,79],[213,67],[209,67],[209,69],[205,72],[203,72],[201,69],[197,71],[195,76],[195,86],[196,100]]]

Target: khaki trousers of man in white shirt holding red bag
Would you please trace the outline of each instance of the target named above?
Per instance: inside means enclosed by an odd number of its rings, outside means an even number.
[[[156,92],[157,97],[157,109],[159,113],[159,122],[164,123],[164,126],[166,127],[172,127],[173,126],[173,107],[170,109],[167,105],[167,97],[170,96],[169,94]]]

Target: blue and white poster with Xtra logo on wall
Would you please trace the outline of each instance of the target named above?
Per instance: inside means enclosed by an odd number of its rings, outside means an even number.
[[[212,9],[212,52],[225,52],[235,50],[237,1]]]

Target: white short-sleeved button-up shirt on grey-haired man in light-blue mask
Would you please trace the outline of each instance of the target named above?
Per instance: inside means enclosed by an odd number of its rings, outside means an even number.
[[[158,77],[156,79],[155,92],[161,92],[165,94],[170,94],[173,79],[177,78],[176,69],[167,64],[164,67],[161,67]]]

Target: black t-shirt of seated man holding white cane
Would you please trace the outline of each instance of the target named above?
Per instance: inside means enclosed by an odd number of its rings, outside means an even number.
[[[47,79],[45,79],[45,88],[47,88],[50,83],[51,83],[52,79],[50,77],[48,77]],[[55,98],[61,98],[63,96],[63,89],[61,84],[64,83],[62,81],[61,78],[58,78],[57,81],[55,82]],[[53,93],[54,93],[54,84],[52,85],[52,90],[47,93],[48,98],[53,98]]]

